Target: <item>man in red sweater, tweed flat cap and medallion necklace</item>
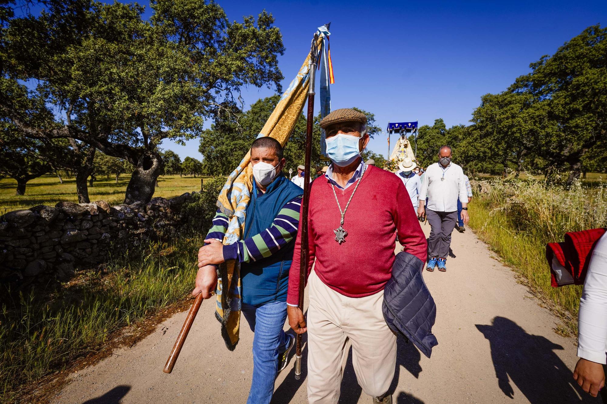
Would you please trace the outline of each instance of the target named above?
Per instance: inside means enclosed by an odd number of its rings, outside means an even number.
[[[307,323],[297,307],[297,233],[287,311],[295,332],[308,331],[310,403],[338,401],[348,340],[363,391],[374,403],[392,403],[388,388],[396,366],[396,335],[385,323],[382,301],[395,260],[396,235],[405,251],[426,261],[426,237],[402,181],[362,161],[360,153],[369,141],[366,123],[366,116],[353,109],[335,110],[320,122],[333,164],[311,186]]]

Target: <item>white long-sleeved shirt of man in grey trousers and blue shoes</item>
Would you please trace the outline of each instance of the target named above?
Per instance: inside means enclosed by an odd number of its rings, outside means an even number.
[[[423,177],[419,200],[426,201],[428,198],[427,209],[435,212],[455,212],[458,198],[464,203],[468,201],[464,170],[457,164],[450,163],[449,166],[443,167],[434,163],[428,167]]]

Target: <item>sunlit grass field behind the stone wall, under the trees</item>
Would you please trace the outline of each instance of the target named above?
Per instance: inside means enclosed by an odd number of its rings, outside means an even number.
[[[130,174],[121,175],[116,183],[115,178],[100,177],[89,187],[91,201],[104,200],[110,205],[120,204],[124,200],[124,192],[131,178]],[[184,192],[200,190],[201,177],[180,177],[179,175],[163,175],[158,177],[158,187],[154,197],[171,198]],[[204,178],[204,177],[203,177]],[[76,196],[75,178],[64,178],[63,184],[52,175],[43,175],[27,183],[25,195],[15,195],[17,182],[12,178],[0,180],[0,215],[17,209],[29,209],[36,205],[55,206],[59,201],[78,202]]]

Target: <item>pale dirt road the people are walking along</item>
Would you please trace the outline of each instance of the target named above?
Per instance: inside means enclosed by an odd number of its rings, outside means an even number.
[[[428,234],[430,226],[423,227]],[[447,272],[424,271],[436,301],[433,332],[439,345],[427,359],[399,340],[395,402],[598,403],[572,379],[574,338],[555,334],[559,320],[538,305],[513,272],[470,231],[453,232],[452,251]],[[546,264],[538,263],[538,271],[547,271]],[[229,352],[212,303],[200,309],[172,374],[162,372],[185,316],[174,315],[133,348],[74,374],[53,402],[245,403],[253,333],[243,327],[236,351]],[[294,380],[291,361],[276,381],[273,402],[306,403],[305,391],[305,378]],[[371,402],[356,383],[351,358],[340,402]]]

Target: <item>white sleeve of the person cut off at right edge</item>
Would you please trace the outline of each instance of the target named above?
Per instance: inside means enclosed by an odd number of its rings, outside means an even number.
[[[605,364],[607,352],[607,233],[592,251],[578,316],[577,355]]]

